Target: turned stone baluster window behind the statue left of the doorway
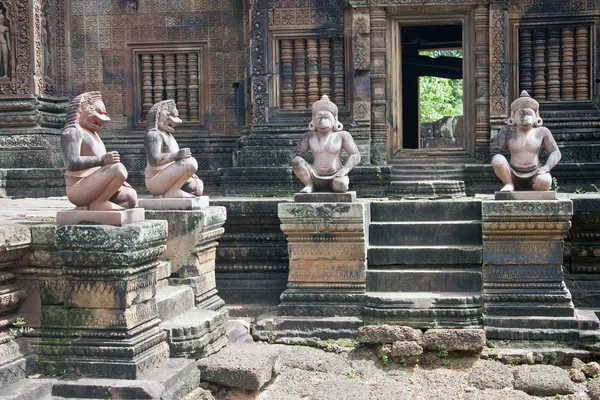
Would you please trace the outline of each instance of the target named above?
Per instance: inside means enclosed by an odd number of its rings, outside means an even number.
[[[338,107],[345,106],[343,37],[277,37],[272,46],[275,107],[281,111],[308,110],[324,94]]]

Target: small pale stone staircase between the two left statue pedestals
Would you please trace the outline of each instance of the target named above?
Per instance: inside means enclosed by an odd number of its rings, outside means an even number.
[[[189,285],[169,285],[170,262],[161,261],[156,285],[156,307],[161,328],[167,332],[171,357],[201,358],[219,351],[228,343],[224,308],[196,307],[196,296]]]

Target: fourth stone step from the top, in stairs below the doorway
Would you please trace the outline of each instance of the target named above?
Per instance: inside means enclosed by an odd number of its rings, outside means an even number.
[[[475,292],[481,290],[481,268],[367,270],[371,292]]]

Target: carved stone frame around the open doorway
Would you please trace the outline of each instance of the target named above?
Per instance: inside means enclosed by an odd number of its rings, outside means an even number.
[[[433,12],[432,12],[433,11]],[[406,25],[449,25],[462,26],[463,50],[463,118],[465,151],[475,156],[475,8],[456,6],[448,9],[432,10],[429,6],[388,7],[386,24],[386,91],[387,91],[387,137],[388,154],[402,151],[402,86],[401,79],[394,79],[401,72],[399,52],[400,27]],[[439,149],[437,149],[439,151]],[[391,153],[391,154],[390,154]]]

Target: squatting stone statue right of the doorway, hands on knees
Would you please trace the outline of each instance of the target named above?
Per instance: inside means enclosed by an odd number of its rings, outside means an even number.
[[[542,126],[539,107],[538,102],[523,91],[510,106],[508,123],[515,129],[499,133],[495,139],[496,148],[510,151],[510,163],[501,154],[492,159],[494,172],[504,183],[503,192],[511,192],[515,187],[547,191],[552,186],[550,170],[560,161],[561,154],[550,130]],[[545,165],[539,159],[542,146],[548,152]]]

